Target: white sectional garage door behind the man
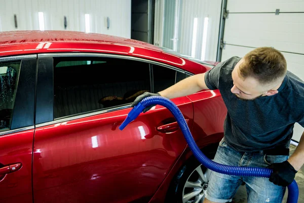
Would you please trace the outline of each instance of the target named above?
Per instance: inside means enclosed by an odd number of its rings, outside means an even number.
[[[221,61],[274,47],[284,54],[287,69],[304,80],[304,0],[227,0],[226,10]],[[303,130],[296,123],[292,139],[299,141]]]

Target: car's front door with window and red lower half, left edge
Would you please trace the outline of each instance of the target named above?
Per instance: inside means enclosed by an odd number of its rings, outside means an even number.
[[[32,202],[36,55],[0,58],[0,202]]]

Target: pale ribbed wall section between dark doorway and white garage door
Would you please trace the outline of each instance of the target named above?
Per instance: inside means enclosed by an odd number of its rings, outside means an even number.
[[[154,44],[193,58],[216,61],[221,2],[156,0]]]

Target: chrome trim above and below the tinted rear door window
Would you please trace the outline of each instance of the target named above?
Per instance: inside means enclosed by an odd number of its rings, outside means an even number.
[[[136,60],[136,61],[146,62],[148,64],[161,65],[161,66],[167,67],[169,69],[173,69],[174,71],[178,71],[178,72],[181,72],[181,73],[185,74],[185,71],[182,70],[182,69],[179,69],[178,67],[168,65],[168,64],[165,64],[165,63],[161,63],[161,62],[157,62],[157,61],[153,61],[153,60],[144,59],[144,58],[137,58],[137,57],[134,57],[134,56],[114,55],[114,54],[105,54],[105,53],[82,53],[82,52],[78,52],[78,53],[45,53],[45,54],[38,54],[37,57],[38,57],[37,61],[39,61],[39,59],[41,59],[41,58],[50,58],[50,57],[52,57],[52,58],[53,57],[122,58],[122,59],[129,59],[129,60]],[[40,66],[40,64],[38,64],[38,67],[39,66]],[[149,65],[149,67],[150,67],[150,71],[151,71],[151,65]],[[39,72],[39,70],[38,70],[38,72]],[[150,77],[150,80],[151,80],[151,77]],[[122,110],[122,109],[127,109],[127,108],[130,108],[130,107],[131,107],[131,104],[127,104],[127,105],[122,105],[122,106],[116,106],[116,107],[109,108],[109,109],[106,109],[106,110],[101,109],[101,110],[95,110],[93,112],[81,113],[81,114],[61,117],[61,118],[57,118],[57,119],[53,118],[52,121],[47,121],[47,122],[44,122],[44,123],[35,123],[35,126],[36,127],[43,127],[43,126],[46,126],[46,125],[52,125],[52,124],[67,122],[67,121],[71,121],[71,120],[75,120],[75,119],[86,118],[86,117],[95,116],[95,115],[98,115],[98,114],[103,114],[103,113],[118,111],[118,110]]]

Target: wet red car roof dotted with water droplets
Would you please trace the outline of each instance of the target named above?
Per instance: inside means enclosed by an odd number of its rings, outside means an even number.
[[[194,74],[209,69],[187,58],[164,52],[153,44],[117,36],[66,30],[0,32],[0,57],[58,52],[128,55],[174,65]]]

